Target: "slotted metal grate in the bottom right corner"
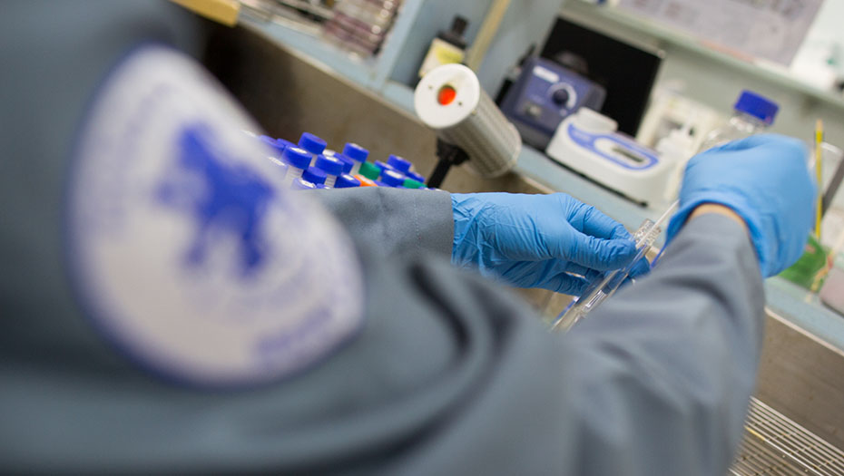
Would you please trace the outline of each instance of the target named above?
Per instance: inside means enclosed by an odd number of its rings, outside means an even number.
[[[844,475],[844,452],[751,398],[744,439],[730,473]]]

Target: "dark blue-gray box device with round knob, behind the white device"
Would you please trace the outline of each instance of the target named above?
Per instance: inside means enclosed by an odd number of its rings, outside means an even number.
[[[581,107],[599,111],[604,87],[584,74],[544,58],[529,58],[518,81],[507,91],[501,111],[525,143],[545,150],[554,131]]]

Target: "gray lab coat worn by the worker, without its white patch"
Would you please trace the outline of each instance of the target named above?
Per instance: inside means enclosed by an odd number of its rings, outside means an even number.
[[[446,193],[329,190],[365,267],[362,331],[276,384],[164,382],[74,298],[66,158],[86,98],[175,6],[4,4],[0,15],[0,472],[721,475],[760,351],[744,230],[707,216],[568,335],[448,263]]]

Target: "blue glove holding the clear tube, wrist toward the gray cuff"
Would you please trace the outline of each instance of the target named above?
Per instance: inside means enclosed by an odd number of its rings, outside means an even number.
[[[453,193],[451,204],[452,263],[515,287],[579,296],[586,279],[623,267],[636,254],[620,223],[564,193]],[[647,269],[637,265],[633,275]]]

